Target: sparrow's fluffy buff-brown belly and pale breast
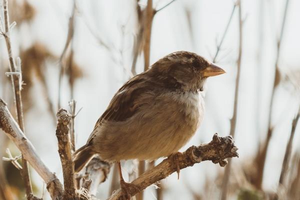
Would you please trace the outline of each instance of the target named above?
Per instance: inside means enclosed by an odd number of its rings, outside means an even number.
[[[169,95],[169,94],[164,94]],[[203,109],[201,96],[172,93],[155,104],[141,107],[129,121],[106,123],[99,128],[96,150],[105,160],[153,160],[178,151],[195,133]],[[144,111],[147,110],[147,111]]]

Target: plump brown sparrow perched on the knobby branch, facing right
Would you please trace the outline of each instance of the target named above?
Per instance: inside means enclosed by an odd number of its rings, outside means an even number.
[[[225,73],[206,58],[188,51],[170,53],[125,82],[96,121],[86,144],[73,153],[79,172],[93,156],[117,162],[120,187],[130,186],[120,160],[155,160],[176,153],[203,118],[203,85]]]

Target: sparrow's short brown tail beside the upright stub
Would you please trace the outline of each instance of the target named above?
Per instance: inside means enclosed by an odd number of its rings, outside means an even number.
[[[93,157],[94,152],[91,150],[90,145],[85,144],[75,150],[72,155],[74,162],[74,171],[79,172]]]

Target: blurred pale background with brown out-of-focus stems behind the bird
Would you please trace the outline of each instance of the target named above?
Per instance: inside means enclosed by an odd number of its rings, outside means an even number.
[[[187,50],[227,73],[208,79],[204,120],[181,150],[209,142],[215,132],[234,134],[239,158],[232,159],[230,170],[209,161],[185,168],[179,180],[174,173],[159,189],[148,187],[143,199],[300,199],[300,1],[8,1],[10,21],[16,22],[12,52],[22,63],[24,132],[60,180],[58,108],[70,110],[72,99],[75,113],[82,108],[74,123],[78,148],[126,80],[168,53]],[[147,6],[157,11],[146,12]],[[0,37],[0,97],[15,114],[7,71]],[[1,157],[8,157],[6,148],[12,156],[20,154],[1,133]],[[25,199],[18,169],[0,162],[0,199]],[[123,164],[126,180],[136,175],[137,161]],[[50,199],[31,168],[30,176],[35,195]],[[112,176],[113,166],[98,198],[110,195]]]

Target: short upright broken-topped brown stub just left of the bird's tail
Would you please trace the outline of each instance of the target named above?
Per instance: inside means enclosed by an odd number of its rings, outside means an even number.
[[[58,153],[63,174],[63,198],[77,199],[78,197],[75,195],[74,185],[74,163],[72,161],[71,142],[67,127],[71,122],[71,117],[65,109],[59,109],[56,116],[58,119],[56,137],[58,140]]]

